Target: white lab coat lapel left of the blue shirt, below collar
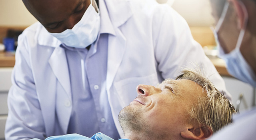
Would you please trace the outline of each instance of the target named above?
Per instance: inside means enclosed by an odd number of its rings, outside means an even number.
[[[68,63],[64,48],[61,48],[60,46],[56,47],[48,62],[54,72],[54,75],[68,94],[68,98],[71,99]]]

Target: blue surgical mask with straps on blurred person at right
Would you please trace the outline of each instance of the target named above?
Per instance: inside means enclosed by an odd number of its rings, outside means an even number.
[[[241,3],[241,4],[243,6],[243,10],[246,11],[244,4],[243,3]],[[213,30],[214,37],[215,37],[215,40],[217,43],[217,48],[219,50],[219,56],[220,56],[220,58],[225,60],[226,65],[227,65],[227,70],[232,76],[256,87],[256,74],[254,73],[254,71],[252,70],[250,65],[246,62],[246,60],[244,59],[244,57],[242,56],[242,54],[240,52],[240,47],[241,47],[242,40],[244,38],[244,33],[246,30],[246,26],[247,26],[247,20],[248,20],[247,11],[245,12],[246,14],[245,14],[245,19],[244,19],[244,25],[243,25],[242,29],[240,30],[235,49],[232,50],[230,53],[225,54],[224,50],[220,46],[217,32],[220,29],[220,26],[222,25],[222,23],[224,21],[224,18],[228,11],[228,6],[229,6],[229,2],[227,1],[224,6],[224,9],[222,11],[222,14],[220,16],[220,19],[219,19],[218,23],[216,24],[216,28],[215,28],[215,30]]]

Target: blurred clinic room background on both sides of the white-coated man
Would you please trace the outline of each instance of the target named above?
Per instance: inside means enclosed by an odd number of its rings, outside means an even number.
[[[255,88],[230,76],[226,64],[217,57],[216,43],[210,26],[214,25],[208,0],[157,0],[168,4],[185,18],[192,35],[226,82],[232,103],[240,112],[255,106]],[[0,0],[0,140],[4,140],[4,126],[8,114],[7,95],[11,86],[11,72],[15,64],[18,35],[36,19],[25,8],[22,0]],[[4,45],[4,39],[5,40]]]

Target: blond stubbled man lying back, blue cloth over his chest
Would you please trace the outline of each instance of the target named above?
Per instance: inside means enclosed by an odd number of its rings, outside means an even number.
[[[120,140],[203,140],[232,122],[234,106],[200,72],[184,70],[158,86],[138,85],[138,96],[119,113]],[[112,140],[97,133],[46,140]]]

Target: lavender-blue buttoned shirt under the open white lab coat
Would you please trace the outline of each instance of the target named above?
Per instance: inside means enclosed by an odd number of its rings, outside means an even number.
[[[108,34],[113,31],[105,4],[100,5],[101,30],[95,42],[87,48],[65,48],[72,92],[72,114],[67,134],[92,136],[102,132],[115,140],[120,138],[106,92]]]

